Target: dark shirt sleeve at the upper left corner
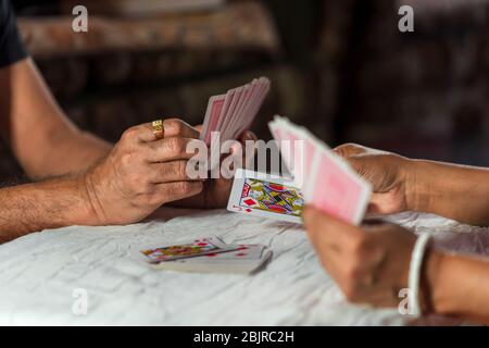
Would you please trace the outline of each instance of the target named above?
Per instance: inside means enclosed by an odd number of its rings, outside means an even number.
[[[0,0],[0,67],[27,57],[10,0]]]

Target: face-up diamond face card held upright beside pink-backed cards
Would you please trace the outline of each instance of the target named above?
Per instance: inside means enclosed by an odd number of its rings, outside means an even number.
[[[302,194],[276,175],[237,169],[227,210],[301,223]]]

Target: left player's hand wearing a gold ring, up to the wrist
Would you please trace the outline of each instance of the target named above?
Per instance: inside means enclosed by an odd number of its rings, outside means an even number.
[[[110,154],[86,174],[97,224],[140,221],[164,203],[196,196],[201,181],[190,181],[187,144],[199,141],[197,129],[183,121],[163,122],[164,138],[155,140],[151,124],[126,130]],[[93,224],[93,223],[92,223]]]

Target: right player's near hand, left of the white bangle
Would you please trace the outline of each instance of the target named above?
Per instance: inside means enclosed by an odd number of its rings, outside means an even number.
[[[388,223],[349,225],[306,207],[305,228],[323,266],[348,300],[398,307],[416,237]]]

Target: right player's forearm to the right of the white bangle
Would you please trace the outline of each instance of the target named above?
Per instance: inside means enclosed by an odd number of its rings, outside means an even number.
[[[489,324],[489,261],[432,250],[425,275],[430,311]]]

